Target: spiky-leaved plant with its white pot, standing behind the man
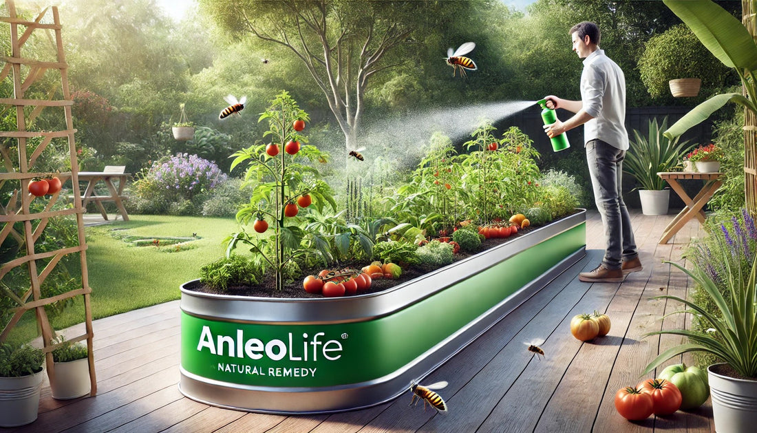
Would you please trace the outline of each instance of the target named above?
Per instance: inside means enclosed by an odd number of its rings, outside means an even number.
[[[659,172],[671,171],[690,148],[688,141],[679,138],[668,139],[662,131],[668,128],[668,117],[657,123],[649,122],[649,135],[644,137],[634,129],[634,139],[628,149],[623,171],[634,176],[639,183],[639,198],[644,215],[665,215],[668,213],[670,190],[665,189],[665,180],[657,176]]]

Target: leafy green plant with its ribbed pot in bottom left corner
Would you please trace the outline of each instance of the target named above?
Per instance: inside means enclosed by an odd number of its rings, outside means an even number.
[[[0,427],[25,425],[37,419],[44,360],[42,350],[29,344],[0,344]]]

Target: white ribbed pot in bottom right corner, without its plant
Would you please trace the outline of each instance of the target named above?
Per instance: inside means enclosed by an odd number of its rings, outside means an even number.
[[[715,431],[731,433],[754,431],[757,425],[757,381],[731,378],[707,367],[710,394],[712,395],[712,419]]]

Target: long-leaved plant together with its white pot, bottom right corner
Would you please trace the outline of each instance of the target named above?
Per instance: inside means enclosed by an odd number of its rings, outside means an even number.
[[[748,214],[746,216],[749,217]],[[754,226],[751,217],[749,220],[746,222],[747,229]],[[754,254],[753,244],[749,247],[749,236],[741,229],[736,229],[735,234],[729,234],[725,226],[721,229],[710,235],[715,237],[715,247],[698,245],[693,253],[694,260],[691,260],[693,269],[671,263],[687,273],[702,289],[706,294],[705,301],[698,304],[675,296],[658,297],[686,305],[688,310],[677,313],[694,313],[703,323],[702,327],[709,329],[706,332],[671,329],[646,334],[683,335],[689,342],[659,354],[646,366],[643,374],[652,372],[665,360],[687,352],[700,351],[714,355],[724,361],[707,369],[715,430],[719,433],[751,431],[757,423],[757,254]],[[736,241],[734,236],[737,237]],[[720,250],[724,260],[715,257],[715,250]],[[750,255],[751,260],[747,260]],[[715,304],[715,313],[706,307],[708,302]]]

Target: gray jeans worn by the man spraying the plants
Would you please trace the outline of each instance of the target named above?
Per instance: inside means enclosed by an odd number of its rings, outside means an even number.
[[[586,160],[594,188],[594,201],[605,227],[606,248],[602,264],[607,269],[620,269],[621,260],[639,257],[631,228],[631,216],[623,202],[622,176],[625,151],[602,140],[586,144]]]

